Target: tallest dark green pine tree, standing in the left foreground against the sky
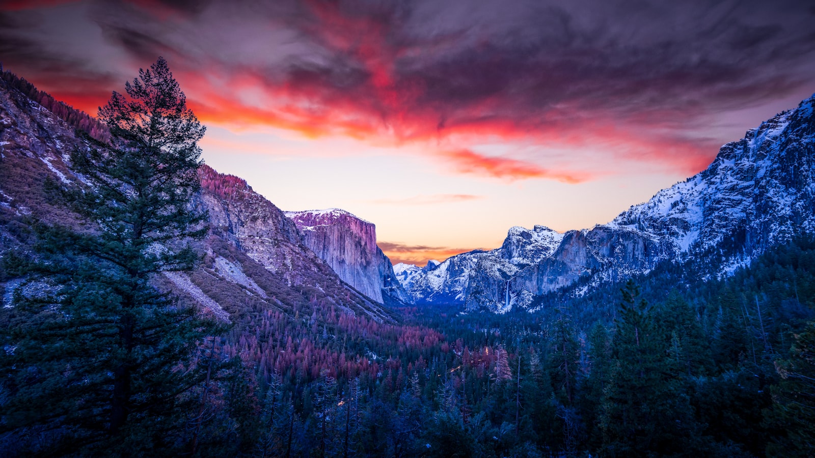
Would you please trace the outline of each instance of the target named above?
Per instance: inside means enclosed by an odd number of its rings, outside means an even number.
[[[164,59],[140,70],[126,93],[99,109],[111,143],[73,153],[90,187],[55,190],[93,227],[33,224],[34,256],[18,265],[28,287],[2,328],[15,349],[2,364],[11,392],[3,426],[51,434],[63,451],[173,445],[168,430],[192,410],[179,408],[183,394],[205,377],[184,366],[215,330],[156,287],[157,274],[195,266],[190,240],[207,231],[190,205],[205,127]]]

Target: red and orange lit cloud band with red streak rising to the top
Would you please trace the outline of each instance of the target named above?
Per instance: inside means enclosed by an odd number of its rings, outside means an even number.
[[[156,0],[131,2],[164,11]],[[641,84],[619,79],[627,77],[627,68],[575,70],[569,59],[553,63],[532,51],[513,55],[486,38],[474,50],[460,46],[461,37],[453,34],[406,37],[399,33],[396,7],[377,5],[306,2],[287,25],[315,55],[241,64],[218,55],[185,60],[189,54],[179,47],[170,53],[171,68],[205,123],[274,126],[308,138],[336,135],[377,146],[418,143],[460,174],[579,183],[621,171],[615,163],[620,159],[690,174],[716,153],[715,142],[682,138],[676,120],[687,119],[691,110],[671,104],[682,98],[667,93],[653,106],[632,102],[642,99],[631,96]],[[136,29],[118,32],[109,33],[111,39],[126,39],[121,46],[139,55],[166,54],[172,51],[167,43],[178,42]],[[109,91],[99,92],[108,84],[74,90],[71,75],[44,74],[34,81],[45,80],[42,89],[77,108],[95,113],[108,99]],[[663,77],[651,82],[671,82],[670,75]],[[118,84],[111,88],[121,90]],[[484,143],[524,145],[526,154],[476,152]],[[552,149],[581,148],[597,160],[545,156]]]

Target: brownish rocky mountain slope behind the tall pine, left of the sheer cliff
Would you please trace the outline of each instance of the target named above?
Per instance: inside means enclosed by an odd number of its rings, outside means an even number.
[[[65,116],[60,117],[59,110],[37,102],[42,95],[36,90],[29,91],[38,97],[32,98],[10,81],[17,80],[8,73],[0,79],[0,254],[25,249],[31,217],[92,229],[90,222],[54,205],[43,183],[84,186],[84,178],[71,170],[70,153],[104,148],[89,135],[99,131],[98,125],[70,123],[77,118],[70,117],[73,112],[62,109]],[[157,284],[226,321],[258,315],[258,310],[297,316],[300,310],[317,309],[394,321],[390,311],[346,284],[308,249],[294,222],[245,180],[207,165],[199,176],[201,192],[193,205],[208,212],[210,224],[209,235],[198,245],[203,262],[196,271],[158,277]],[[0,282],[11,299],[19,280],[2,278],[0,272]]]

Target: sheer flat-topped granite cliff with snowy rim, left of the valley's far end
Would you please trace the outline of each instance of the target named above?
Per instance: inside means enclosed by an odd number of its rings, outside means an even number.
[[[377,246],[377,227],[341,209],[286,212],[303,243],[337,275],[373,300],[408,300],[390,259]]]

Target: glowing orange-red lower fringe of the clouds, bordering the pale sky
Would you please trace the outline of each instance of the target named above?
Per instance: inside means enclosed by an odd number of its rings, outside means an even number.
[[[461,116],[440,124],[438,112],[416,103],[390,107],[386,110],[390,114],[383,117],[376,103],[364,101],[376,100],[377,96],[341,95],[319,85],[298,85],[293,81],[275,83],[252,69],[225,72],[215,63],[208,73],[186,68],[174,73],[188,94],[190,108],[205,124],[270,126],[307,139],[338,136],[378,147],[419,143],[428,156],[441,160],[455,173],[507,181],[537,178],[582,183],[601,174],[619,172],[615,164],[619,159],[693,174],[703,170],[717,150],[716,142],[655,137],[646,131],[632,132],[601,121],[580,121],[575,125],[550,121],[533,129],[510,118]],[[90,113],[95,113],[109,97],[98,88],[87,92],[55,90],[52,94]],[[474,110],[488,110],[496,103],[485,101]],[[487,156],[470,148],[485,140],[525,143],[527,157],[534,156],[535,148],[589,148],[601,154],[590,162],[566,158],[544,167],[535,161]],[[452,145],[461,147],[450,148]],[[540,161],[546,161],[546,157],[540,156]]]

